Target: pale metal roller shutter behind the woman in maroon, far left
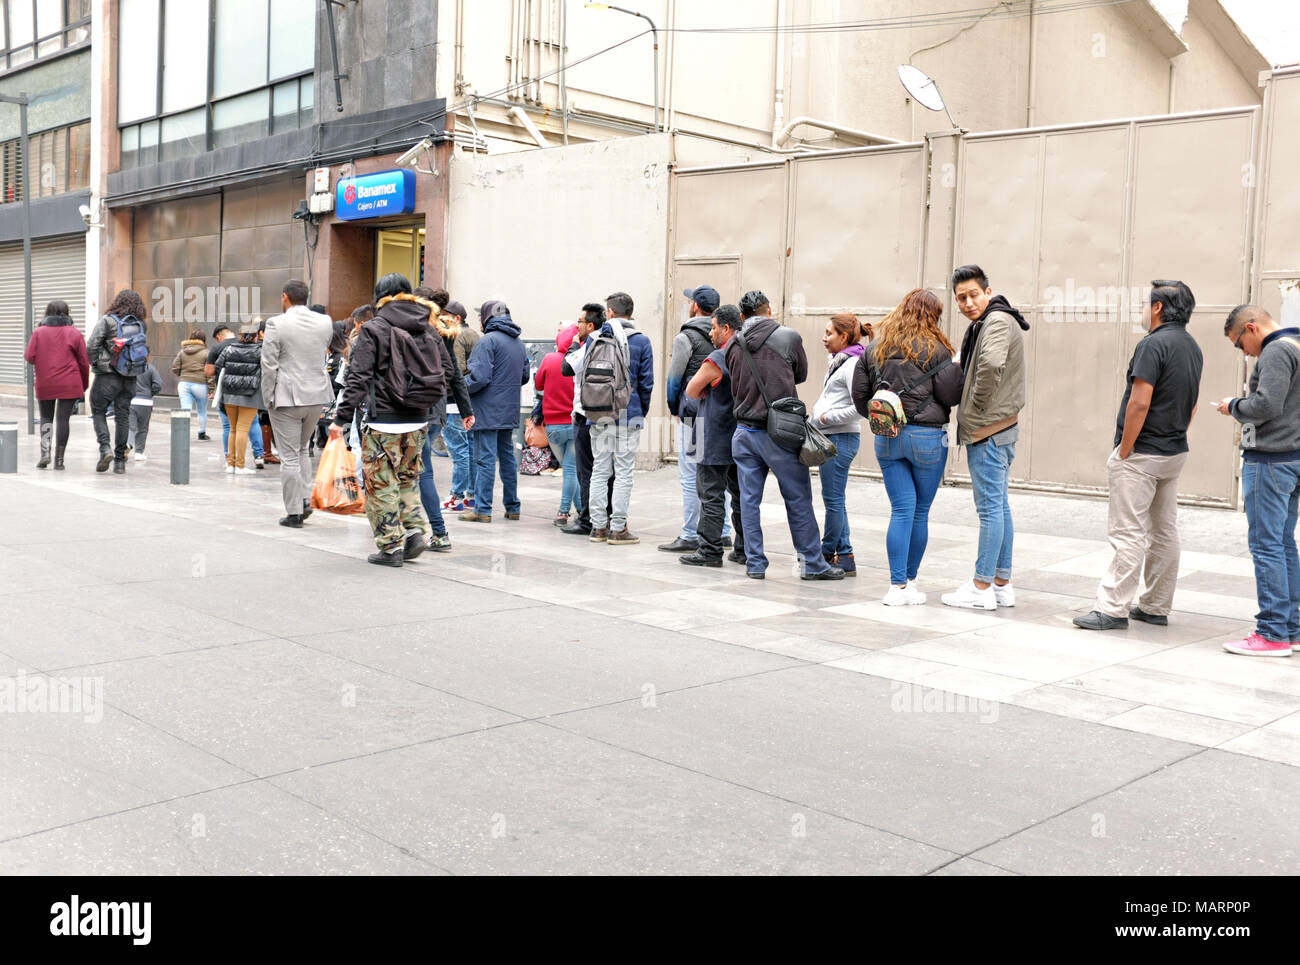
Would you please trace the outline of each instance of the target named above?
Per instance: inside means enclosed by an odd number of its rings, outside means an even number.
[[[0,384],[22,385],[27,347],[23,332],[22,245],[0,245]],[[73,321],[86,332],[86,235],[72,234],[31,245],[31,315],[39,325],[46,306],[56,298],[72,308]]]

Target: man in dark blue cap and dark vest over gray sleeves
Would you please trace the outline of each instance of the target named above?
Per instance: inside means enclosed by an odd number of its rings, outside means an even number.
[[[689,403],[688,412],[681,412],[681,391],[699,371],[703,360],[716,351],[708,333],[712,330],[712,313],[722,303],[722,298],[711,285],[686,289],[682,294],[690,299],[689,315],[682,323],[681,330],[672,338],[672,354],[668,360],[668,372],[664,375],[668,412],[677,419],[681,533],[671,542],[659,546],[664,553],[692,553],[699,549],[699,536],[696,532],[699,525],[699,494],[696,492],[696,433],[692,428],[696,414],[690,410]],[[731,527],[724,528],[724,537],[731,536],[729,529]]]

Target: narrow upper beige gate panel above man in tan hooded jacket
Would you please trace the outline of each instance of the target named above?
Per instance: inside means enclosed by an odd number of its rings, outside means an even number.
[[[993,291],[1031,304],[1039,137],[967,142],[963,164],[956,264],[980,265]]]

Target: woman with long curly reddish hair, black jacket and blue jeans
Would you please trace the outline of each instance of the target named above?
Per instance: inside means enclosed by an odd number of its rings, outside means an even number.
[[[894,437],[876,436],[875,453],[889,497],[889,590],[885,606],[920,606],[916,572],[930,542],[930,507],[948,462],[948,420],[962,398],[962,369],[933,291],[913,289],[880,323],[880,334],[853,368],[853,404],[870,417],[871,397],[893,391],[906,423]]]

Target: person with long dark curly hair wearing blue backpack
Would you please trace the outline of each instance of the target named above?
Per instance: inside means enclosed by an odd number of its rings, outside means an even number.
[[[126,445],[131,432],[131,399],[135,397],[135,378],[148,364],[148,358],[138,358],[135,346],[143,346],[146,336],[144,300],[138,291],[124,289],[113,298],[108,312],[95,325],[86,355],[95,372],[90,391],[90,412],[99,442],[99,462],[95,472],[126,472]],[[146,350],[147,352],[147,350]],[[114,433],[108,437],[108,407],[113,407]]]

